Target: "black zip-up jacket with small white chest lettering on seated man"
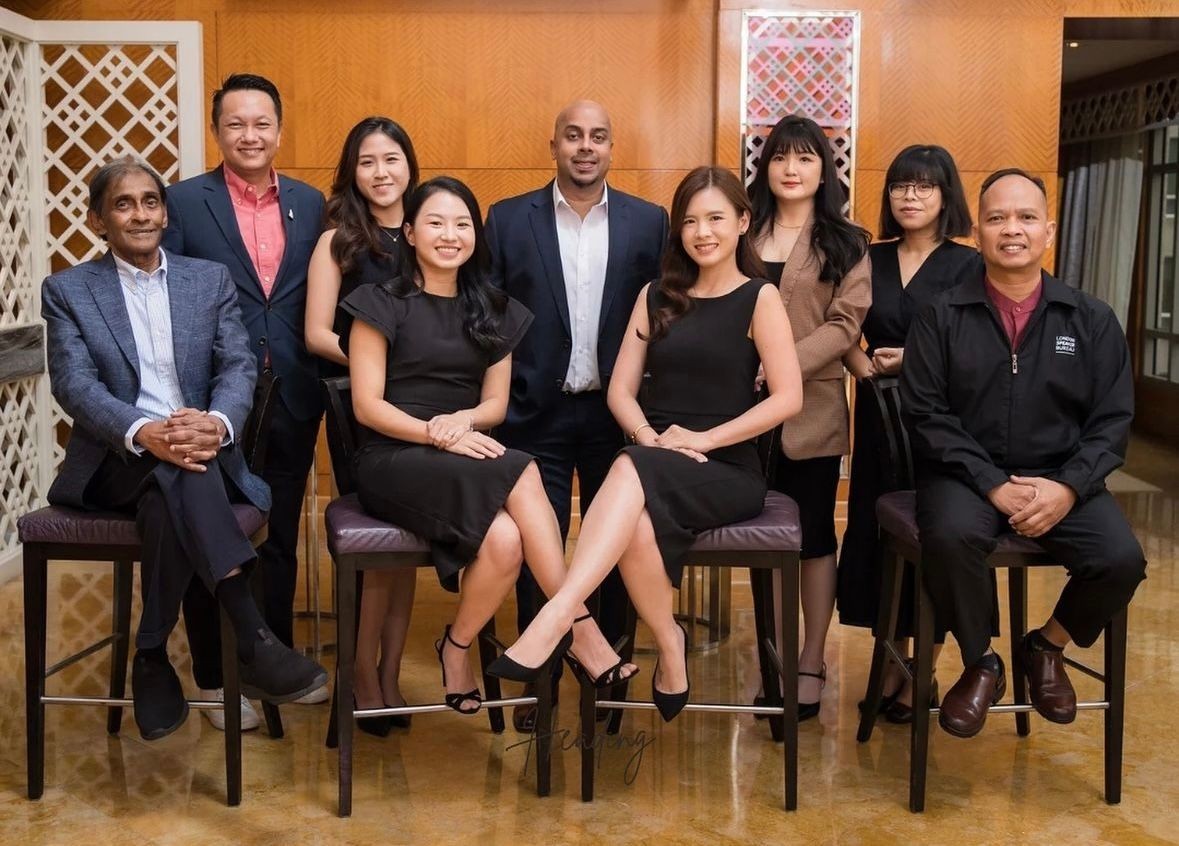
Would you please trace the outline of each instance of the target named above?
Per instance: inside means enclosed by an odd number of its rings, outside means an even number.
[[[1043,273],[1019,349],[977,276],[913,322],[901,403],[918,476],[949,474],[981,496],[1012,474],[1086,500],[1124,461],[1134,388],[1126,336],[1099,299]]]

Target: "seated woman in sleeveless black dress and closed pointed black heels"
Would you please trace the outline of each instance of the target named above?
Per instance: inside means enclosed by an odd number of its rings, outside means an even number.
[[[760,278],[749,224],[749,198],[726,170],[698,167],[676,190],[661,276],[635,303],[607,394],[635,445],[619,452],[594,497],[565,584],[493,672],[534,676],[618,562],[659,649],[659,713],[671,720],[687,701],[687,635],[672,614],[685,554],[700,531],[762,511],[753,439],[802,407],[790,322],[777,287]],[[770,396],[757,402],[759,362]]]

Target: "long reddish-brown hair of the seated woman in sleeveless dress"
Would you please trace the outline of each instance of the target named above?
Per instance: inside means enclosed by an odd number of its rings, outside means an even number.
[[[659,262],[657,283],[665,303],[648,316],[651,332],[645,339],[650,343],[667,335],[667,328],[692,309],[693,300],[689,291],[696,285],[700,269],[684,249],[684,218],[687,217],[687,206],[692,198],[707,189],[720,191],[732,204],[738,218],[743,213],[752,214],[749,194],[745,193],[740,180],[724,167],[697,167],[684,177],[671,201],[671,227],[667,230],[667,245]],[[737,269],[750,278],[765,276],[765,267],[753,250],[749,231],[737,239]]]

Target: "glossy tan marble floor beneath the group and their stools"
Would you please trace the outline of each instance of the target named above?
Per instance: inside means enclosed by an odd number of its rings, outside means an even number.
[[[245,735],[244,798],[224,806],[223,735],[196,713],[154,743],[131,731],[107,736],[105,710],[50,708],[46,791],[25,799],[20,582],[0,586],[0,842],[2,844],[1162,844],[1179,842],[1179,455],[1135,441],[1118,497],[1147,551],[1150,577],[1131,609],[1125,787],[1102,801],[1101,715],[1073,726],[1033,718],[1019,739],[994,715],[969,741],[935,729],[924,814],[910,814],[908,729],[882,725],[855,740],[867,633],[832,626],[830,680],[818,720],[801,728],[799,808],[782,808],[780,746],[752,718],[685,714],[663,725],[630,712],[624,745],[602,748],[597,801],[579,799],[578,751],[554,758],[553,795],[534,793],[534,762],[511,727],[485,718],[427,715],[386,740],[357,735],[354,814],[336,817],[336,755],[323,745],[328,706],[288,706],[286,736]],[[324,561],[323,579],[330,564]],[[110,620],[108,568],[54,566],[51,662],[101,636]],[[1050,608],[1062,574],[1032,576],[1032,617]],[[299,602],[304,597],[301,595]],[[693,695],[751,696],[757,686],[747,587],[733,586],[733,635],[691,662]],[[403,688],[439,699],[430,643],[452,597],[421,574]],[[514,610],[500,613],[511,632]],[[310,642],[309,627],[302,636]],[[324,637],[330,640],[331,632]],[[172,653],[187,679],[183,637]],[[1003,648],[1007,648],[1006,642]],[[954,676],[956,654],[942,660]],[[1079,652],[1079,650],[1074,650]],[[1100,666],[1100,643],[1088,650]],[[324,656],[330,665],[330,654]],[[651,659],[640,660],[650,685]],[[53,681],[55,692],[99,693],[93,656]],[[1076,681],[1085,698],[1098,685]],[[559,725],[575,731],[567,680]],[[130,715],[126,725],[131,726]],[[1170,775],[1168,775],[1170,773]]]

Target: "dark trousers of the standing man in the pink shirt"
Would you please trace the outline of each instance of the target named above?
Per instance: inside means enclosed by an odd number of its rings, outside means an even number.
[[[266,541],[258,549],[258,577],[262,579],[263,617],[286,646],[295,646],[298,528],[318,434],[318,417],[296,419],[282,402],[276,404],[262,471],[262,478],[270,485],[271,507]],[[205,689],[222,687],[220,617],[212,594],[199,583],[193,583],[184,595],[184,621],[189,629],[193,680]]]

